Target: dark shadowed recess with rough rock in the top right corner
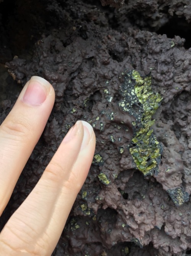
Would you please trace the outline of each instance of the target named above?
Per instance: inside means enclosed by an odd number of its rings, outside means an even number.
[[[110,15],[112,17],[112,15]],[[126,0],[125,5],[113,12],[113,28],[125,32],[129,26],[155,31],[173,38],[185,38],[185,47],[191,47],[191,2],[189,0]]]

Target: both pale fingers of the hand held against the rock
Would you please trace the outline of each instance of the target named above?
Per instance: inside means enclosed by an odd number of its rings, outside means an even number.
[[[0,126],[0,215],[42,134],[55,101],[52,85],[32,77]],[[50,256],[89,171],[95,150],[90,124],[66,134],[42,177],[0,233],[0,256]]]

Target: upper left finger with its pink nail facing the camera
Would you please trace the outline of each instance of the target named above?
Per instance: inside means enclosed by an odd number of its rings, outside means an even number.
[[[0,126],[0,215],[44,130],[54,100],[50,83],[33,76]]]

